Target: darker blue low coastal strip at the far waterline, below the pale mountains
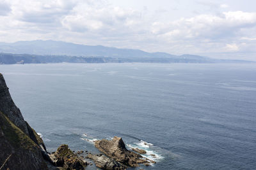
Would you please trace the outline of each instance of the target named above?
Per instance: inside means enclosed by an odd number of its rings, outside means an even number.
[[[186,57],[187,56],[187,57]],[[193,55],[182,55],[180,57],[77,57],[68,55],[32,55],[16,53],[0,53],[0,64],[46,64],[46,63],[124,63],[124,62],[145,62],[145,63],[249,63],[246,60],[221,60],[211,59]],[[191,55],[192,56],[192,55]]]

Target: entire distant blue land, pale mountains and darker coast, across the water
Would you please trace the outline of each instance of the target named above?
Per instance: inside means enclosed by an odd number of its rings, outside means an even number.
[[[49,62],[248,62],[220,60],[198,55],[172,55],[148,53],[142,50],[107,46],[77,45],[63,41],[17,41],[0,43],[0,64],[49,63]]]

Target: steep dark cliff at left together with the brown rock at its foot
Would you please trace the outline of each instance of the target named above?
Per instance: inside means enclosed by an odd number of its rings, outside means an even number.
[[[22,117],[0,73],[0,170],[81,170],[87,165],[67,145],[61,145],[53,155]]]

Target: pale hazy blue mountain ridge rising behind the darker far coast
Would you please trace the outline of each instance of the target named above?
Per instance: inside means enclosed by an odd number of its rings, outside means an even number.
[[[63,41],[17,41],[15,43],[0,43],[0,52],[28,53],[36,55],[76,55],[105,57],[172,57],[169,53],[148,53],[142,50],[113,48],[107,46],[77,45]]]

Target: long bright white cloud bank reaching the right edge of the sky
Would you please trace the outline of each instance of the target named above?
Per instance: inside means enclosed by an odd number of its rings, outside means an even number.
[[[228,11],[220,16],[197,15],[169,23],[155,22],[152,24],[152,33],[163,34],[171,39],[223,39],[234,36],[241,28],[255,25],[256,13]]]

